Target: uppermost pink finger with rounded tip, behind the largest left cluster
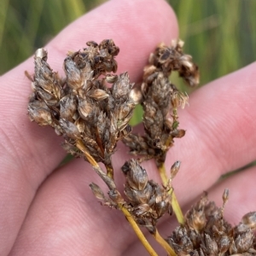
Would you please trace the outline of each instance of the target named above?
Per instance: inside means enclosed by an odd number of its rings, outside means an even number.
[[[154,15],[158,19],[153,21]],[[127,67],[131,79],[137,79],[155,45],[177,38],[177,21],[164,1],[105,3],[73,22],[47,45],[50,66],[60,71],[67,50],[80,49],[88,40],[103,38],[115,40],[122,52],[121,71]],[[9,252],[39,184],[64,156],[59,146],[61,139],[27,119],[27,96],[31,91],[24,71],[32,70],[32,62],[32,58],[25,61],[0,79],[0,109],[5,120],[0,133],[0,201],[5,206],[0,223],[1,255]]]

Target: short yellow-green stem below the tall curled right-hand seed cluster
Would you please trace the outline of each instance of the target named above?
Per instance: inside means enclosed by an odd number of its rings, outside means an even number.
[[[160,165],[158,165],[158,170],[160,172],[160,177],[161,177],[162,183],[164,185],[166,185],[166,183],[168,182],[168,177],[166,175],[165,164],[164,163],[160,163]],[[183,212],[181,210],[181,207],[178,204],[177,197],[174,194],[174,191],[172,191],[172,208],[173,208],[173,212],[176,215],[178,223],[179,224],[184,224]]]

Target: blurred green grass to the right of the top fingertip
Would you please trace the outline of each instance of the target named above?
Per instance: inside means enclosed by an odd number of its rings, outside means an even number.
[[[177,13],[184,51],[193,55],[201,69],[201,84],[255,60],[255,1],[169,2]]]

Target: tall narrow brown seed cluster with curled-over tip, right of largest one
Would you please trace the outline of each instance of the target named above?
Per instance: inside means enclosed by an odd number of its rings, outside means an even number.
[[[188,96],[177,90],[169,76],[172,71],[177,71],[187,84],[195,86],[199,83],[199,72],[191,56],[183,54],[182,47],[181,40],[173,41],[170,47],[160,44],[149,57],[141,86],[145,135],[129,134],[123,140],[131,154],[155,158],[163,163],[173,138],[185,134],[184,130],[178,129],[177,107],[183,108]]]

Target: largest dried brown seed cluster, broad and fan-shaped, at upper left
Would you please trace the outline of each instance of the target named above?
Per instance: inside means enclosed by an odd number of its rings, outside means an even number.
[[[81,140],[97,162],[109,166],[117,141],[131,131],[133,84],[128,73],[113,74],[117,70],[114,57],[119,53],[113,40],[87,45],[67,55],[66,79],[51,70],[46,50],[37,50],[28,113],[38,125],[51,125],[63,135],[67,152],[83,156],[76,147]]]

